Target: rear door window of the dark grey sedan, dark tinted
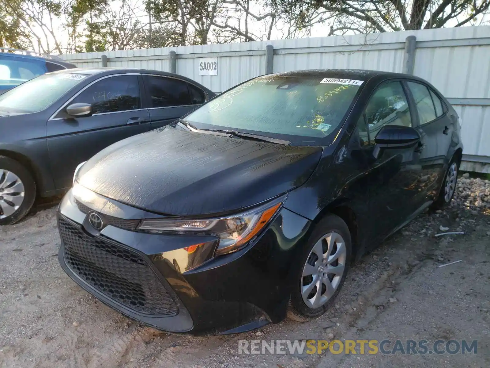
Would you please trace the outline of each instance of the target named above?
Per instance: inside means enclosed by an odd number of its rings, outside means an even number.
[[[192,105],[187,82],[168,77],[145,76],[150,107]]]

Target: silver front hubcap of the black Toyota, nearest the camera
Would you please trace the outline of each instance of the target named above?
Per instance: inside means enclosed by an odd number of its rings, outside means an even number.
[[[340,234],[328,233],[317,241],[301,278],[301,296],[308,307],[319,308],[332,297],[340,285],[345,259],[345,242]]]

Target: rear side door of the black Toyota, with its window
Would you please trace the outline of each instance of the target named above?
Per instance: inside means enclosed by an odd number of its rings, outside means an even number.
[[[454,131],[453,121],[445,113],[447,108],[441,99],[429,86],[415,80],[407,80],[406,84],[417,110],[421,175],[429,200],[437,196],[444,177]]]

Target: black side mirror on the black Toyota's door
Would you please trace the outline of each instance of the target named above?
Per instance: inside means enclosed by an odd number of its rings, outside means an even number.
[[[375,158],[379,158],[386,149],[414,147],[420,141],[420,134],[412,127],[400,125],[385,125],[374,137]]]

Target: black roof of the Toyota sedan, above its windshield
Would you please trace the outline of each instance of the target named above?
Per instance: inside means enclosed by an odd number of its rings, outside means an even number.
[[[380,70],[364,70],[364,69],[309,69],[296,70],[292,72],[274,73],[269,76],[275,77],[310,77],[310,78],[339,78],[339,79],[355,79],[368,80],[373,77],[386,78],[413,78],[412,75],[402,73],[383,72]]]

